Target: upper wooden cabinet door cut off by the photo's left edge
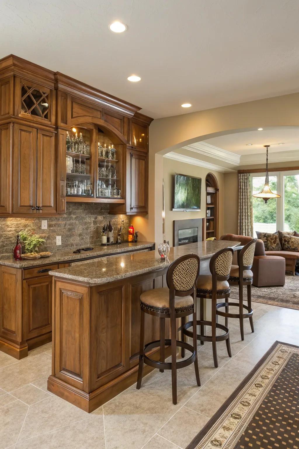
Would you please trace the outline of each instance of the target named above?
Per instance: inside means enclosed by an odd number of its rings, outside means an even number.
[[[0,215],[11,213],[12,125],[0,128]]]

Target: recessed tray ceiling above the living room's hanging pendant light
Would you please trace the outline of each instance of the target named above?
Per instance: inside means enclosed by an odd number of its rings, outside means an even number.
[[[273,128],[263,131],[239,132],[206,139],[206,143],[239,154],[265,153],[263,145],[271,145],[270,153],[299,150],[299,127]],[[251,143],[251,146],[247,146]],[[284,143],[284,145],[278,145]]]

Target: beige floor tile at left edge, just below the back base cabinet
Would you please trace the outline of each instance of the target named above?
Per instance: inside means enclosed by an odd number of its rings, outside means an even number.
[[[27,385],[51,373],[51,359],[48,354],[26,357],[0,369],[0,388],[7,392]]]

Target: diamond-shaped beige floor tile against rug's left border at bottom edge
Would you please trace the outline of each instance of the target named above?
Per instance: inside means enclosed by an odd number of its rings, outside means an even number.
[[[182,407],[157,433],[177,446],[185,448],[208,420],[206,416]]]

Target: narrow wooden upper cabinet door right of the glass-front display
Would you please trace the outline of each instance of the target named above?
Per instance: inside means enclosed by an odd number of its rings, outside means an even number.
[[[129,213],[147,212],[148,209],[148,158],[147,154],[130,150],[127,196]]]

